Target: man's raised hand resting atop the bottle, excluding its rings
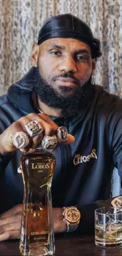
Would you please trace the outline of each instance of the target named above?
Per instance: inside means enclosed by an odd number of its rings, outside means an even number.
[[[44,135],[51,136],[55,135],[55,133],[57,132],[57,124],[55,124],[54,121],[45,113],[30,113],[28,114],[28,116],[21,117],[19,120],[13,122],[13,124],[11,124],[9,128],[6,128],[6,130],[2,132],[2,134],[0,135],[0,154],[7,155],[16,151],[17,148],[13,146],[13,135],[15,135],[17,132],[26,132],[25,124],[34,120],[42,125],[43,133],[35,135],[35,137],[33,138],[30,138],[29,146],[25,149],[21,149],[21,151],[27,152],[30,148],[35,149],[39,147],[39,144],[41,143]],[[74,141],[75,138],[72,135],[68,134],[68,140],[66,142],[63,142],[63,144],[70,144]]]

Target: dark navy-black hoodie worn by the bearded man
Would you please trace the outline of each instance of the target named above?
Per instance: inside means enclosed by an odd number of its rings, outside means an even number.
[[[0,97],[0,133],[28,113],[39,113],[32,101],[35,68]],[[94,231],[94,210],[112,206],[114,166],[122,177],[122,100],[94,85],[94,97],[76,117],[52,117],[75,136],[72,145],[54,150],[56,169],[52,183],[54,207],[77,206],[81,221],[76,232]],[[23,202],[20,151],[0,158],[0,212]]]

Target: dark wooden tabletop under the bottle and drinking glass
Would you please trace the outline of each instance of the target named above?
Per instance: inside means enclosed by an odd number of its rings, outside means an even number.
[[[55,236],[55,256],[122,256],[122,247],[102,249],[94,245],[93,236],[71,236],[70,234]],[[0,243],[0,255],[20,256],[19,240]],[[36,256],[36,255],[35,255]]]

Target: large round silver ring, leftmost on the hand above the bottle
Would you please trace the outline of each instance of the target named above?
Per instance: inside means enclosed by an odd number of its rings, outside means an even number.
[[[15,135],[13,135],[13,145],[19,150],[27,147],[29,143],[29,137],[25,132],[16,132]]]

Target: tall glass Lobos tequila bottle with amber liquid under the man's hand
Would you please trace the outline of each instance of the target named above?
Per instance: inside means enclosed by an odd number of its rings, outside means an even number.
[[[55,252],[51,198],[54,167],[54,155],[46,150],[37,149],[20,158],[24,180],[20,253],[24,256],[52,255]]]

